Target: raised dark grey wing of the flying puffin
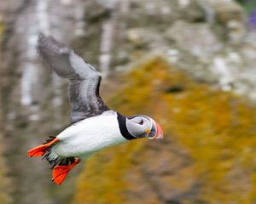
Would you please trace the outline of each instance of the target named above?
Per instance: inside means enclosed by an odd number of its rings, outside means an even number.
[[[72,49],[42,33],[38,38],[38,51],[59,76],[69,79],[71,123],[109,110],[99,94],[101,74],[92,65]]]

